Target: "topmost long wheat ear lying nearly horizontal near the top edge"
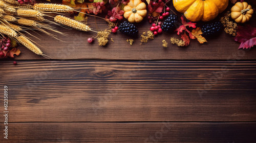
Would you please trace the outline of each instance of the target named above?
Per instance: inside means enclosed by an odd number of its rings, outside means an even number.
[[[39,3],[39,4],[34,4],[33,8],[34,10],[39,10],[39,11],[61,12],[61,13],[69,13],[73,11],[73,9],[70,6],[59,5],[59,4]]]

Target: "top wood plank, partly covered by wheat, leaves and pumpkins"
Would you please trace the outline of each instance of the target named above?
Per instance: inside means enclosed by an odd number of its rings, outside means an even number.
[[[172,3],[169,4],[172,7]],[[172,7],[174,10],[174,8]],[[180,14],[181,15],[181,14]],[[218,18],[217,18],[218,19]],[[249,24],[256,27],[256,16],[254,15]],[[108,28],[108,23],[102,19],[95,19],[89,16],[88,25],[94,30],[104,30]],[[232,36],[226,34],[224,31],[217,38],[208,39],[208,43],[200,44],[197,40],[191,40],[188,47],[178,47],[170,43],[170,37],[180,38],[173,33],[163,33],[158,35],[154,40],[149,40],[148,43],[140,45],[140,40],[143,32],[149,31],[151,24],[147,22],[146,18],[137,23],[136,26],[139,29],[137,37],[129,37],[121,32],[111,34],[110,38],[113,38],[114,42],[109,41],[108,45],[102,47],[98,45],[97,40],[94,44],[87,42],[89,37],[96,37],[94,32],[80,32],[76,30],[67,30],[61,27],[56,27],[56,30],[67,34],[63,36],[56,34],[57,38],[65,41],[58,41],[46,34],[40,33],[32,34],[39,37],[41,40],[37,40],[34,37],[27,35],[32,40],[36,41],[40,46],[42,52],[52,57],[52,59],[103,59],[103,60],[205,60],[205,59],[236,59],[239,53],[243,53],[243,56],[239,56],[240,59],[256,59],[256,50],[252,48],[249,52],[238,50],[239,43],[232,39]],[[201,27],[202,23],[198,23]],[[134,39],[134,45],[130,45],[126,42],[127,39]],[[165,39],[168,42],[168,47],[162,47],[162,40]],[[16,59],[29,60],[29,59],[45,59],[44,57],[33,54],[25,47],[20,47],[22,54]]]

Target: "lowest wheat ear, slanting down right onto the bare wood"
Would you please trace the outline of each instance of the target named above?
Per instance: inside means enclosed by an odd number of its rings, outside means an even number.
[[[42,55],[42,51],[25,36],[18,36],[16,39],[26,46],[30,51],[37,55]]]

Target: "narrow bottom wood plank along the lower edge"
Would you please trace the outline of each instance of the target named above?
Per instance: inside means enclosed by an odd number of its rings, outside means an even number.
[[[1,127],[2,128],[2,127]],[[3,130],[2,130],[3,132]],[[11,123],[2,142],[255,142],[256,123]]]

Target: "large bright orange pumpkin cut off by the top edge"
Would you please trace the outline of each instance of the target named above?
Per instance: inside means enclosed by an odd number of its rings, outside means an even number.
[[[228,0],[173,0],[173,4],[190,21],[210,21],[227,8]]]

